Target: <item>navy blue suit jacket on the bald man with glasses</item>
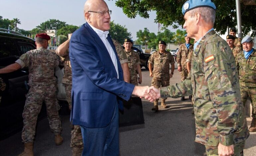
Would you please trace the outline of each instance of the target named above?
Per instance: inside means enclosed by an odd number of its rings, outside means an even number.
[[[69,42],[72,68],[72,110],[74,125],[89,128],[105,127],[110,123],[116,103],[123,109],[122,99],[128,101],[134,85],[123,81],[123,70],[114,43],[108,35],[118,63],[119,78],[102,40],[85,23],[76,30]]]

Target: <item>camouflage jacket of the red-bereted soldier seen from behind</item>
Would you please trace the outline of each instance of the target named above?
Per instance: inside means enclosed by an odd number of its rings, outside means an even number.
[[[61,63],[60,57],[43,47],[22,54],[16,63],[29,67],[29,85],[42,86],[56,84],[55,68]]]

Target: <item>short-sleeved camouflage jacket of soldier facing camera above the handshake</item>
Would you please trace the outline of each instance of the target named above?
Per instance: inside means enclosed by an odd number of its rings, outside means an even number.
[[[167,51],[162,55],[159,51],[154,52],[148,62],[154,66],[153,75],[156,78],[170,77],[170,64],[175,63],[172,54]]]

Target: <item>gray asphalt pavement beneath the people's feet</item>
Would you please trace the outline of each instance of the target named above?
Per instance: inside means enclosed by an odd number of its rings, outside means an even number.
[[[142,69],[142,85],[151,85],[149,71]],[[176,69],[170,84],[180,82]],[[204,146],[195,143],[195,121],[191,114],[191,101],[167,99],[169,108],[155,113],[151,111],[153,103],[142,100],[145,124],[120,127],[121,156],[201,156]],[[160,102],[159,102],[160,105]],[[55,146],[54,135],[50,132],[48,120],[39,121],[34,145],[35,156],[69,156],[71,155],[69,116],[61,116],[64,143]],[[249,120],[249,118],[248,118]],[[250,124],[250,121],[248,121]],[[15,156],[23,151],[21,132],[0,141],[1,156]],[[256,132],[251,133],[246,142],[244,155],[255,156]]]

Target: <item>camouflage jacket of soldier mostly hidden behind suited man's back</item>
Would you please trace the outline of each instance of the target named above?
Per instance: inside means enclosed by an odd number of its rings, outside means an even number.
[[[71,64],[70,64],[70,59],[69,59],[69,50],[67,49],[67,51],[63,54],[60,55],[57,53],[57,55],[59,55],[63,61],[64,64],[64,75],[62,78],[62,83],[64,84],[72,84],[72,70],[71,70]]]

